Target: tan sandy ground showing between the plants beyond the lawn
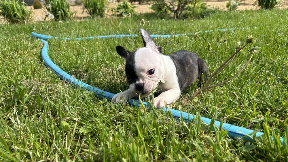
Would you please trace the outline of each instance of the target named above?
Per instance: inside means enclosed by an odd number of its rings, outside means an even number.
[[[256,0],[243,0],[241,1],[242,4],[238,6],[237,10],[255,10],[255,9],[259,9],[259,7],[257,5],[254,5]],[[207,5],[210,8],[218,8],[221,10],[226,10],[226,0],[203,0],[203,2],[207,3]],[[116,3],[117,4],[117,3]],[[153,12],[153,10],[149,9],[149,5],[147,4],[136,4],[138,5],[138,7],[136,7],[136,11],[137,13],[146,13],[146,12]],[[115,3],[109,3],[107,11],[106,11],[106,16],[113,16],[114,13],[111,12],[111,8],[115,7]],[[42,21],[45,18],[45,14],[46,14],[46,9],[42,8],[42,9],[33,9],[32,6],[27,6],[27,8],[30,10],[32,10],[32,18],[33,21],[36,21],[36,16],[40,16]],[[288,0],[283,0],[281,2],[280,5],[277,5],[277,8],[279,9],[287,9],[288,8]],[[82,20],[84,18],[89,17],[89,14],[87,14],[86,12],[83,12],[83,5],[71,5],[70,6],[70,10],[72,12],[76,12],[75,16],[75,20]],[[6,23],[5,20],[3,20],[2,17],[0,17],[0,24]]]

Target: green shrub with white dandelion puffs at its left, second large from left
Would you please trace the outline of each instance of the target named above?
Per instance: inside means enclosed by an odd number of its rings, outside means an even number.
[[[52,17],[55,20],[71,20],[74,13],[70,12],[70,4],[66,0],[47,0],[45,5],[47,11],[46,18]],[[51,16],[54,15],[54,16]],[[46,19],[45,18],[45,19]]]

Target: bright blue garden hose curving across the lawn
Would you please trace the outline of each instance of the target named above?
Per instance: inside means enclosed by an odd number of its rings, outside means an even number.
[[[256,27],[254,27],[256,28]],[[237,29],[249,29],[249,28],[237,28]],[[236,30],[236,28],[229,28],[229,29],[218,29],[218,30],[209,30],[209,31],[200,31],[198,33],[208,33],[208,32],[213,32],[213,31],[228,31],[228,30]],[[178,37],[181,35],[191,35],[194,33],[186,33],[186,34],[177,34],[177,35],[150,35],[151,37],[155,38],[155,37],[162,37],[162,38],[167,38],[167,37]],[[105,36],[97,36],[97,37],[83,37],[83,38],[75,38],[75,40],[81,40],[81,39],[101,39],[101,38],[109,38],[109,37],[136,37],[137,35],[105,35]],[[51,37],[51,36],[47,36],[47,35],[41,35],[41,34],[37,34],[37,33],[31,33],[31,37],[36,37],[38,39],[40,39],[40,41],[43,42],[43,48],[41,51],[41,56],[42,59],[44,61],[44,63],[46,64],[46,66],[48,66],[53,73],[55,73],[56,75],[58,75],[58,77],[60,77],[62,80],[64,80],[65,82],[68,82],[74,86],[77,87],[81,87],[81,88],[85,88],[88,91],[92,91],[95,93],[95,96],[97,95],[99,98],[106,98],[108,100],[111,100],[113,98],[113,96],[115,94],[104,91],[102,89],[98,89],[96,87],[93,87],[89,84],[86,84],[82,81],[79,81],[78,79],[72,77],[71,75],[67,74],[65,71],[63,71],[62,69],[60,69],[56,64],[54,64],[54,62],[52,62],[52,60],[49,58],[48,56],[48,43],[47,39],[50,38],[55,38],[57,39],[58,37]],[[71,38],[60,38],[60,39],[71,39]],[[134,99],[130,99],[128,101],[129,104],[133,105],[133,106],[140,106],[140,103],[138,100],[134,100]],[[142,104],[141,104],[142,105]],[[145,107],[149,108],[149,103],[143,102],[143,105]],[[176,119],[181,119],[183,118],[185,121],[192,121],[195,118],[195,115],[190,114],[190,113],[186,113],[186,112],[182,112],[179,110],[175,110],[172,108],[162,108],[162,111],[164,113],[170,111],[171,114],[173,115],[174,118]],[[209,118],[205,118],[205,117],[200,117],[201,120],[203,121],[203,123],[206,124],[210,124],[211,123],[211,119]],[[219,127],[221,124],[220,121],[214,121],[214,125]],[[259,136],[262,136],[264,133],[262,132],[257,132],[255,133],[253,130],[250,129],[246,129],[246,128],[242,128],[242,127],[238,127],[235,125],[231,125],[231,124],[227,124],[227,123],[222,123],[222,129],[227,130],[228,131],[228,136],[230,136],[231,138],[235,138],[235,137],[241,137],[245,140],[251,140],[253,141],[253,136],[255,136],[256,138]],[[249,135],[249,136],[247,136]],[[284,138],[280,137],[281,143],[284,144]],[[287,142],[287,141],[286,141]]]

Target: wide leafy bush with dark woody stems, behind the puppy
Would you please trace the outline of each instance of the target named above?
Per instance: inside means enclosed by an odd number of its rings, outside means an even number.
[[[196,10],[204,10],[206,8],[206,3],[201,3],[200,0],[160,0],[154,1],[150,7],[158,15],[173,16],[175,20],[194,17]]]

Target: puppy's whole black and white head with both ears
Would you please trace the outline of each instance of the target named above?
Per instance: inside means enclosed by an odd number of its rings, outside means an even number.
[[[140,29],[144,47],[133,52],[117,46],[117,53],[126,60],[125,71],[130,89],[146,94],[154,89],[160,79],[164,79],[165,68],[162,49],[151,39],[144,29]]]

